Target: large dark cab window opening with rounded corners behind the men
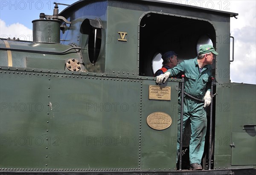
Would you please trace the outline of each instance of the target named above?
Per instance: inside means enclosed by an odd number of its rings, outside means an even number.
[[[215,47],[216,31],[209,20],[157,11],[145,12],[139,19],[138,42],[140,45],[138,45],[137,59],[139,75],[154,75],[152,64],[157,52],[163,54],[166,51],[175,51],[179,54],[179,62],[195,58],[198,39],[202,35],[209,36]],[[215,62],[213,64],[215,68]]]

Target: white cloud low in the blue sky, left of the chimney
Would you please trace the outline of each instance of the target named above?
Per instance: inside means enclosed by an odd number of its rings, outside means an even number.
[[[32,41],[32,30],[25,25],[15,23],[12,25],[6,25],[6,23],[0,19],[0,38],[19,38],[20,40]]]

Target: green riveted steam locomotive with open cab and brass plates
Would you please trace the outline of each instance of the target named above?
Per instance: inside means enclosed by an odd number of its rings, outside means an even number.
[[[32,42],[0,39],[1,174],[256,174],[256,85],[230,82],[238,14],[156,0],[60,5],[32,21]],[[219,54],[198,172],[186,168],[189,132],[176,164],[183,80],[153,75],[165,51],[185,60],[202,44]]]

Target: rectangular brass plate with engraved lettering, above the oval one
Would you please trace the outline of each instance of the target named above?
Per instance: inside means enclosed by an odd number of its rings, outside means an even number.
[[[171,100],[171,87],[149,85],[148,99]]]

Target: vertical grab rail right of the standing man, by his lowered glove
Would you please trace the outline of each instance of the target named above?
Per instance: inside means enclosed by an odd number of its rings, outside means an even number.
[[[212,77],[212,84],[211,84],[211,98],[213,101],[213,82],[214,78]],[[210,127],[209,127],[209,152],[208,152],[208,169],[211,170],[211,160],[212,160],[212,102],[211,102],[211,109],[210,109]]]

